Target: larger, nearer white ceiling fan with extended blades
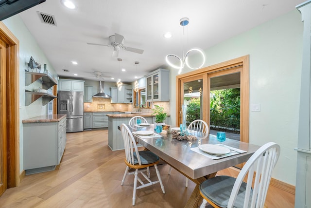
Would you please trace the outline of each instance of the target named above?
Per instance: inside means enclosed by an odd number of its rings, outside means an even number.
[[[115,35],[113,36],[109,36],[109,43],[110,45],[104,45],[104,44],[99,44],[99,43],[90,43],[88,42],[87,44],[89,45],[100,45],[100,46],[107,46],[107,47],[113,47],[113,53],[112,56],[113,57],[118,57],[119,55],[119,50],[125,50],[125,51],[130,51],[130,52],[134,52],[134,53],[138,53],[138,54],[142,54],[144,52],[144,50],[141,49],[137,49],[137,48],[131,48],[131,47],[127,47],[124,46],[124,37],[115,33]]]

